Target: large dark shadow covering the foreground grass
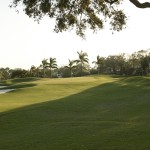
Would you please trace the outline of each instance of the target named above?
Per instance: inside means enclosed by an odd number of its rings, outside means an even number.
[[[0,149],[149,149],[150,92],[123,81],[1,113]]]

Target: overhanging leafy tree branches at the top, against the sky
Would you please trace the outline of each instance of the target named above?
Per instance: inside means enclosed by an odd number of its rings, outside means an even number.
[[[150,3],[129,0],[138,8],[149,8]],[[10,7],[23,5],[25,14],[40,21],[43,16],[55,19],[55,32],[70,29],[83,37],[87,28],[97,31],[107,21],[112,30],[120,31],[127,17],[119,9],[122,0],[12,0]]]

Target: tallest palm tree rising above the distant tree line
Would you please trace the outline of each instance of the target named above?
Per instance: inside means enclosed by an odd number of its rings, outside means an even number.
[[[77,52],[77,53],[79,55],[79,59],[76,60],[76,63],[81,65],[81,75],[82,75],[84,65],[89,62],[88,54],[86,52],[83,52],[83,51]]]

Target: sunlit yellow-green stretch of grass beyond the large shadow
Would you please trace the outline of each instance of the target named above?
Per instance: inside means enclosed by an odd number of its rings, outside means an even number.
[[[100,79],[100,80],[98,80]],[[15,79],[6,83],[15,91],[0,95],[0,112],[44,101],[56,100],[82,92],[88,88],[113,82],[107,77],[80,77],[70,79]],[[5,83],[5,84],[6,84]],[[8,88],[8,87],[7,87]]]

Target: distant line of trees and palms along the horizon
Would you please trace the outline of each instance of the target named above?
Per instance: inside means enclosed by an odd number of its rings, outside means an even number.
[[[0,80],[24,77],[79,77],[90,74],[115,74],[115,75],[140,75],[150,73],[150,50],[140,50],[127,54],[109,55],[108,57],[97,56],[90,67],[88,54],[77,52],[78,59],[68,60],[68,65],[59,67],[56,58],[43,59],[39,66],[32,65],[29,70],[0,68]]]

